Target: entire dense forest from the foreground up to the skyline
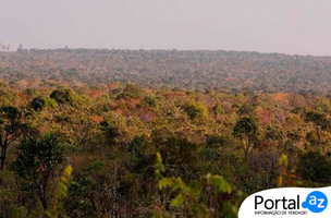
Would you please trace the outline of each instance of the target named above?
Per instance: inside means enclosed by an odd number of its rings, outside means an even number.
[[[0,53],[0,217],[228,217],[331,183],[331,58]]]

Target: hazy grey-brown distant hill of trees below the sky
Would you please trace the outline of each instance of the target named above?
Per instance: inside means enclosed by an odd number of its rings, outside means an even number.
[[[57,49],[0,52],[0,78],[69,84],[331,93],[331,57],[241,51]]]

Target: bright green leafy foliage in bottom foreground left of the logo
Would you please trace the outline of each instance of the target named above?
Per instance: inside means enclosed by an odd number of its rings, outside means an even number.
[[[232,186],[223,177],[208,173],[188,184],[181,177],[164,177],[166,169],[159,153],[156,157],[155,173],[159,197],[166,198],[159,201],[161,204],[156,207],[156,218],[177,216],[237,218],[243,193],[238,191],[234,194]],[[232,196],[234,201],[226,201],[226,195]]]

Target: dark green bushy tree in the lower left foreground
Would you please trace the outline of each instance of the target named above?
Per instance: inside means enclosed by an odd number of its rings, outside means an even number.
[[[24,137],[17,146],[13,169],[20,178],[22,191],[38,197],[45,211],[52,198],[53,180],[62,162],[63,149],[53,133],[45,134],[39,141]]]

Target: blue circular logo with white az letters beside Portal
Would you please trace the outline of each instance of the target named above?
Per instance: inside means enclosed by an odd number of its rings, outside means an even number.
[[[304,208],[308,208],[312,213],[321,213],[328,206],[328,197],[322,192],[311,192],[306,202],[302,204]]]

